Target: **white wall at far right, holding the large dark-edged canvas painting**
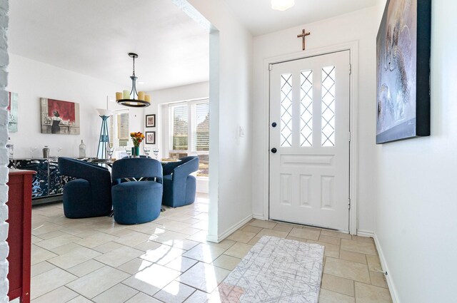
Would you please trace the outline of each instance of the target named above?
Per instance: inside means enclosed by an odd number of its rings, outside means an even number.
[[[456,302],[457,3],[431,2],[431,136],[376,148],[376,236],[402,303]]]

